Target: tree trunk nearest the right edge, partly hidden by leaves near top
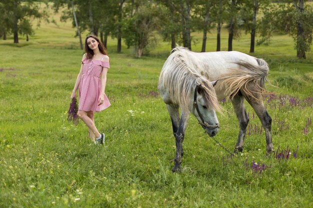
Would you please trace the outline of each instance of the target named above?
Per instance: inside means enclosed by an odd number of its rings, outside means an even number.
[[[298,0],[298,3],[296,1],[293,2],[294,6],[297,10],[297,12],[303,12],[304,11],[304,0]],[[296,33],[296,56],[298,58],[303,58],[305,59],[305,50],[303,49],[303,40],[305,39],[304,37],[304,28],[303,28],[303,20],[299,19],[297,21],[296,25],[297,33]]]

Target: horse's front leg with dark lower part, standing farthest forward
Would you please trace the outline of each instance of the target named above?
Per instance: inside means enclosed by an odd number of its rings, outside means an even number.
[[[176,172],[180,170],[181,158],[183,155],[182,142],[184,139],[184,132],[187,126],[188,119],[189,119],[189,111],[181,110],[179,126],[175,135],[176,157],[174,159],[174,167],[172,169],[172,172]]]

